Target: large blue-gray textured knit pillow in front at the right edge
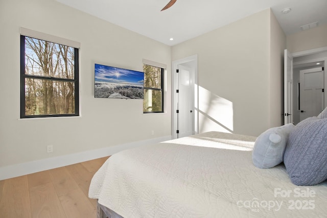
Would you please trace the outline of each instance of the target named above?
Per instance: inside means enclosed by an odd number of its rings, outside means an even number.
[[[327,118],[309,117],[295,126],[284,164],[295,185],[316,185],[327,179]]]

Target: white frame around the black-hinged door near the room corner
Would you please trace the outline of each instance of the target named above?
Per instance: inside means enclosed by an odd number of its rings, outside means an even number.
[[[199,129],[199,112],[198,112],[198,56],[193,55],[190,57],[178,59],[176,61],[172,62],[172,138],[177,138],[177,105],[176,102],[176,90],[177,90],[177,78],[176,78],[176,70],[178,69],[178,65],[186,64],[188,62],[192,62],[192,68],[194,70],[194,87],[193,87],[193,93],[194,93],[194,134],[198,133]]]

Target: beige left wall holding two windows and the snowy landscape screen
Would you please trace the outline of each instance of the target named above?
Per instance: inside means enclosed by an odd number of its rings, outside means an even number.
[[[81,117],[19,119],[20,27],[81,43]],[[171,135],[170,46],[54,0],[1,1],[0,29],[0,167]],[[168,66],[167,113],[144,115],[142,100],[94,98],[95,63],[142,71],[143,59]]]

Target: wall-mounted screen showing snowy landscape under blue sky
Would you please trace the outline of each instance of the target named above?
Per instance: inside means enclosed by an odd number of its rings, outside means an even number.
[[[144,72],[95,64],[95,98],[143,99]]]

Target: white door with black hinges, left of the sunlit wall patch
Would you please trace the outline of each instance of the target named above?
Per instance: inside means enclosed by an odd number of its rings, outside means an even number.
[[[176,72],[177,138],[194,134],[194,72],[182,64]]]

